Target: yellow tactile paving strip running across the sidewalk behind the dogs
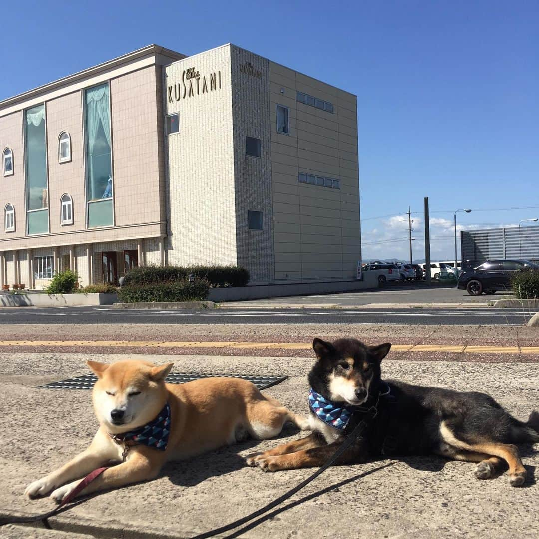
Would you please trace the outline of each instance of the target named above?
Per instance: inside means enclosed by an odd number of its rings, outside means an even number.
[[[0,341],[1,347],[105,347],[105,348],[240,348],[310,350],[310,343],[238,341]],[[393,344],[395,352],[451,352],[457,354],[539,354],[539,347],[464,344]]]

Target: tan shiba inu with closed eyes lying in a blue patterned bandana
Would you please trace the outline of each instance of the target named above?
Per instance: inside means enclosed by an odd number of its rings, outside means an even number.
[[[277,436],[286,421],[308,428],[272,397],[238,378],[203,378],[186,384],[165,384],[173,363],[156,366],[145,361],[111,365],[88,361],[98,381],[93,404],[100,427],[92,443],[70,462],[25,491],[63,500],[79,480],[110,461],[81,495],[153,479],[163,464],[233,444],[248,436]]]

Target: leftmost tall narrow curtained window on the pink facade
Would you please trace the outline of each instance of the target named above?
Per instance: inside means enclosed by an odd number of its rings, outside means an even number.
[[[29,234],[49,232],[45,105],[25,112],[26,197]]]

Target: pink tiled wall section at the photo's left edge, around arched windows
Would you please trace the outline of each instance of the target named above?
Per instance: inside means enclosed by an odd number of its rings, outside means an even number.
[[[6,147],[13,151],[12,176],[4,176],[3,154]],[[0,251],[9,240],[26,234],[26,203],[24,186],[23,113],[16,112],[0,118]],[[15,208],[15,232],[5,231],[6,204]]]

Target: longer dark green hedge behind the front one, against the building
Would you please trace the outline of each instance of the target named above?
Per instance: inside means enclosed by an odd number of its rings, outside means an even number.
[[[125,286],[186,280],[189,275],[208,281],[212,288],[246,286],[249,272],[240,266],[139,266],[126,273]]]

